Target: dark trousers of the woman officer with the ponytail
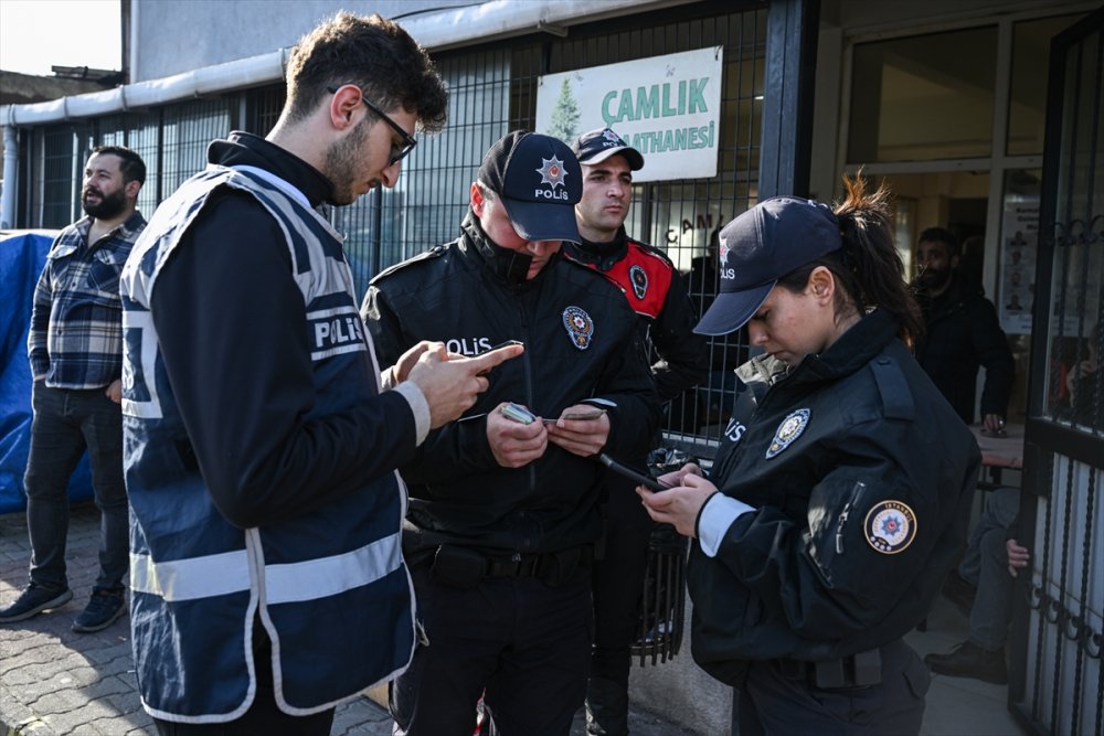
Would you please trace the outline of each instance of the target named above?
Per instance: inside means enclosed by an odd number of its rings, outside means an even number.
[[[882,682],[825,690],[808,678],[787,676],[776,661],[752,662],[740,690],[740,736],[906,736],[919,734],[927,668],[903,641],[882,649]]]

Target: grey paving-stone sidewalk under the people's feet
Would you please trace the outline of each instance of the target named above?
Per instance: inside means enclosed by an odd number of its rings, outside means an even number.
[[[96,508],[91,503],[74,508],[66,553],[73,600],[56,611],[0,625],[0,736],[156,733],[138,697],[129,619],[96,633],[70,629],[92,595],[98,538]],[[30,557],[23,513],[0,515],[0,607],[13,601],[26,584]],[[363,697],[338,710],[331,734],[389,736],[391,726],[386,711]],[[629,714],[629,726],[636,736],[687,733],[637,708]],[[572,736],[583,733],[580,716]]]

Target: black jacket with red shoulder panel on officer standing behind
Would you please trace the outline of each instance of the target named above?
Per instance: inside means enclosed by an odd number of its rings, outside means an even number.
[[[669,402],[705,377],[705,337],[693,331],[697,320],[686,285],[662,250],[634,241],[622,227],[609,243],[565,243],[564,254],[601,271],[625,292],[645,340],[660,359],[651,366],[660,401]]]

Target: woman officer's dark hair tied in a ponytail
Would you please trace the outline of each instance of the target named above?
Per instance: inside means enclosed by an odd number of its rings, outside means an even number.
[[[832,273],[842,287],[836,295],[837,314],[877,307],[896,318],[900,337],[909,344],[924,332],[924,320],[904,280],[904,264],[893,243],[893,194],[884,182],[867,192],[862,175],[843,177],[847,196],[832,206],[843,247],[778,279],[778,285],[800,291],[817,266]]]

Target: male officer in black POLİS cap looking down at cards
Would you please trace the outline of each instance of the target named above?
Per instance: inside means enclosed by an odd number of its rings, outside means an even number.
[[[485,690],[507,735],[566,734],[583,703],[601,531],[593,456],[639,448],[659,407],[620,291],[560,258],[578,239],[580,192],[566,146],[511,132],[484,158],[459,238],[384,271],[365,298],[385,362],[420,340],[526,343],[402,468],[428,644],[394,683],[399,733],[470,732]]]

